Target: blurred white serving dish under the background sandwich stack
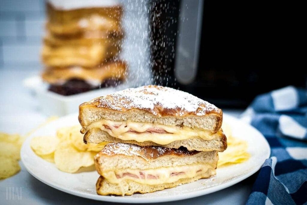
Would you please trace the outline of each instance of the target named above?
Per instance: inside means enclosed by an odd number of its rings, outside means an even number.
[[[40,76],[26,78],[23,84],[34,92],[44,114],[56,116],[64,116],[78,112],[81,103],[90,101],[95,97],[114,93],[133,86],[132,84],[124,82],[116,87],[102,88],[71,96],[63,96],[48,91],[48,84],[44,83]]]

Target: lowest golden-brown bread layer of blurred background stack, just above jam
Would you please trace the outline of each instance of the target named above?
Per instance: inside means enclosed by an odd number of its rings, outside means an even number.
[[[50,84],[63,83],[73,78],[99,82],[103,82],[109,78],[124,80],[126,76],[126,68],[126,63],[123,61],[103,63],[103,65],[94,68],[81,66],[49,67],[44,70],[42,77]]]

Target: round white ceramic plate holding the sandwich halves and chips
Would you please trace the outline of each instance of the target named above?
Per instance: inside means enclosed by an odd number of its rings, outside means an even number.
[[[188,199],[219,191],[246,179],[258,171],[264,160],[270,156],[269,144],[255,128],[226,114],[224,114],[223,120],[231,126],[233,136],[248,142],[248,152],[251,154],[251,158],[242,164],[218,168],[216,176],[210,179],[200,179],[154,193],[132,196],[100,196],[96,194],[95,189],[95,183],[99,177],[96,171],[74,174],[62,172],[54,164],[35,155],[30,148],[31,138],[55,135],[56,130],[60,127],[78,124],[76,114],[52,121],[29,136],[21,148],[21,160],[30,174],[40,181],[61,191],[89,199],[119,203],[153,203]]]

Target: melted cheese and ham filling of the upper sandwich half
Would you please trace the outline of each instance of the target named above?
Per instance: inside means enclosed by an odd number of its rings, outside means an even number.
[[[201,129],[180,126],[166,126],[163,124],[140,123],[130,121],[98,120],[91,123],[87,130],[99,128],[121,140],[135,140],[137,142],[152,141],[157,144],[169,144],[177,140],[187,140],[200,137],[212,140],[220,136],[221,130],[213,135]],[[87,131],[86,130],[86,131]]]

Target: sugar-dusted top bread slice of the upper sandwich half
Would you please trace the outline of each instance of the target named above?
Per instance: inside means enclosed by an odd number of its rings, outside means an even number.
[[[221,128],[223,112],[189,93],[149,85],[98,97],[79,106],[83,133],[101,119],[198,128],[214,134]]]

